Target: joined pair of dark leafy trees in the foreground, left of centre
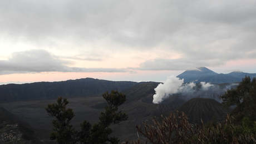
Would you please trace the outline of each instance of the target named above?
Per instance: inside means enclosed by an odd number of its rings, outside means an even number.
[[[102,95],[107,101],[105,112],[101,112],[100,122],[91,125],[88,121],[81,123],[81,131],[78,132],[71,125],[71,119],[75,116],[71,108],[66,109],[67,98],[58,97],[57,103],[48,104],[46,111],[48,115],[56,117],[52,120],[54,132],[50,139],[57,140],[57,143],[118,143],[117,137],[110,137],[112,133],[109,126],[127,120],[126,113],[118,111],[118,107],[126,101],[126,95],[118,91],[106,92]]]

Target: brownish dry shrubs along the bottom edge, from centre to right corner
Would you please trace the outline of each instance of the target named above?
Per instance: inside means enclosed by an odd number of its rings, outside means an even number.
[[[243,120],[244,125],[233,125],[229,114],[224,124],[217,123],[216,126],[204,127],[201,125],[191,125],[184,112],[170,113],[169,117],[161,117],[159,122],[154,119],[155,126],[144,123],[145,130],[141,126],[136,126],[146,140],[138,139],[132,144],[140,143],[255,143],[256,123]],[[248,124],[252,124],[249,127]]]

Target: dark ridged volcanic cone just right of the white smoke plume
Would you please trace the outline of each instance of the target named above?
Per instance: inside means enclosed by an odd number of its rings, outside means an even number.
[[[178,108],[178,111],[184,112],[189,118],[190,123],[204,123],[216,120],[223,121],[227,115],[227,110],[219,102],[211,98],[192,98]]]

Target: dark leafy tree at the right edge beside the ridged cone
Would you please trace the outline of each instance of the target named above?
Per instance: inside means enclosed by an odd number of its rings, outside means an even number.
[[[237,88],[228,90],[223,96],[222,104],[226,107],[235,106],[232,111],[232,116],[236,122],[242,122],[244,117],[249,117],[250,120],[256,121],[256,78],[250,80],[249,76],[245,76]]]

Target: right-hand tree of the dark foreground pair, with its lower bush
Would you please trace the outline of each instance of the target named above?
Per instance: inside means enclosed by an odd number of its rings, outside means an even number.
[[[126,95],[119,93],[118,91],[106,92],[102,95],[107,101],[108,105],[105,106],[105,112],[100,114],[100,122],[96,123],[92,127],[87,121],[83,121],[81,124],[82,131],[80,137],[87,137],[80,140],[82,143],[118,143],[120,140],[117,137],[110,137],[112,133],[109,126],[111,124],[117,124],[121,121],[127,120],[128,116],[122,111],[118,111],[118,107],[126,101]],[[90,128],[89,128],[90,127]]]

